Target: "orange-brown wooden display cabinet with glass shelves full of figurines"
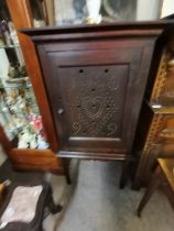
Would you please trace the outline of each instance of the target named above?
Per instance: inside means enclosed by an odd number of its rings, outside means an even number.
[[[15,16],[13,12],[18,4]],[[0,3],[0,143],[17,169],[65,174],[62,160],[54,153],[55,146],[47,141],[30,70],[26,70],[23,58],[23,43],[17,32],[19,22],[22,28],[32,25],[26,7],[26,1],[2,0]]]

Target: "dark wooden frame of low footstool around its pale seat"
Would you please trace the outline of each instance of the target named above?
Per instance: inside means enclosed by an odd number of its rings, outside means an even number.
[[[22,222],[10,222],[4,229],[4,231],[41,231],[42,230],[42,221],[44,218],[44,209],[48,208],[50,212],[56,213],[62,210],[62,206],[55,205],[53,201],[53,193],[48,183],[44,180],[44,174],[41,172],[25,172],[18,173],[14,172],[10,162],[6,161],[2,166],[0,166],[0,182],[4,182],[6,179],[10,179],[11,185],[7,187],[4,199],[0,206],[0,217],[6,210],[9,201],[11,199],[12,193],[18,186],[36,186],[42,185],[43,190],[37,201],[36,206],[36,215],[34,219],[30,223]]]

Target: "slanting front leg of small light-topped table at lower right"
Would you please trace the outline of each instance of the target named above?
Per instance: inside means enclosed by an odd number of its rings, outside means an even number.
[[[141,216],[141,212],[142,212],[143,208],[145,207],[145,205],[148,204],[148,201],[150,200],[151,196],[154,194],[154,191],[161,184],[160,173],[161,173],[161,170],[160,170],[160,167],[157,166],[155,173],[153,174],[153,176],[150,180],[146,191],[138,207],[137,213],[139,217]]]

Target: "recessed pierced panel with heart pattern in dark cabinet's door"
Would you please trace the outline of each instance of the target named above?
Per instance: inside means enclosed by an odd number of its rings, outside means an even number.
[[[58,69],[72,136],[120,135],[128,65]]]

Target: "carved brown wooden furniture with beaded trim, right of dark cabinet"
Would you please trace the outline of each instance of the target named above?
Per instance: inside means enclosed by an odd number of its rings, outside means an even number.
[[[134,153],[139,158],[133,183],[135,189],[148,184],[157,157],[174,157],[173,41],[173,34],[168,33],[156,77],[146,86],[134,145]]]

